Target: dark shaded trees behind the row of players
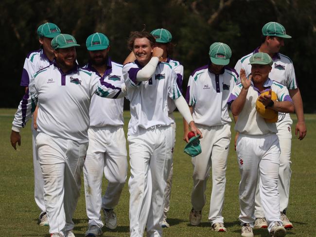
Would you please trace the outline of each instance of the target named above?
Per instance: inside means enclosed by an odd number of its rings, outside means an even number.
[[[294,62],[304,112],[316,112],[315,13],[314,0],[2,0],[0,107],[18,107],[24,59],[39,48],[36,29],[47,21],[82,45],[77,49],[80,65],[87,62],[85,42],[94,32],[108,36],[112,59],[122,63],[129,53],[126,41],[131,31],[142,30],[143,24],[149,32],[166,28],[176,43],[173,57],[184,65],[184,89],[190,73],[208,62],[211,43],[230,46],[229,66],[234,67],[260,45],[263,25],[277,21],[292,36],[281,53]]]

